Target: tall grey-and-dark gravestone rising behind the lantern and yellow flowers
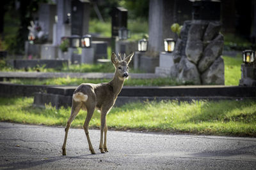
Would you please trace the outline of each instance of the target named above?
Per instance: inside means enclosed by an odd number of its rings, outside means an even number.
[[[173,23],[183,24],[191,20],[192,3],[188,0],[150,0],[148,16],[148,49],[162,52],[164,38],[177,39],[172,32]]]

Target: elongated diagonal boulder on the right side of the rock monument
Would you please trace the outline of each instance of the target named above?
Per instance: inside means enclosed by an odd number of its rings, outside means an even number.
[[[224,39],[221,34],[219,34],[209,45],[206,46],[203,56],[198,62],[198,69],[200,73],[203,73],[214,60],[219,57],[222,53]]]

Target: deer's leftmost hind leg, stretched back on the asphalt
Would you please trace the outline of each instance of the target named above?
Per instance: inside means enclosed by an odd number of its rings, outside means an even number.
[[[72,124],[74,118],[76,118],[77,113],[80,111],[81,106],[82,106],[81,102],[76,102],[73,100],[71,114],[70,114],[70,117],[68,118],[67,126],[65,128],[65,138],[62,146],[62,155],[67,155],[66,144],[67,144],[67,137],[68,137],[68,129],[70,128],[70,125]]]

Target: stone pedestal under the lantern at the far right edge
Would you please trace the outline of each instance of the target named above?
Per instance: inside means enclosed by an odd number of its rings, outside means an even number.
[[[241,86],[256,86],[256,68],[241,64],[241,80],[239,81]]]

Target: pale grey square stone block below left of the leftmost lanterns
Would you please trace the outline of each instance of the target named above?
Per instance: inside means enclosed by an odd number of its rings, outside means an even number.
[[[45,44],[41,46],[41,59],[57,59],[58,46]]]

